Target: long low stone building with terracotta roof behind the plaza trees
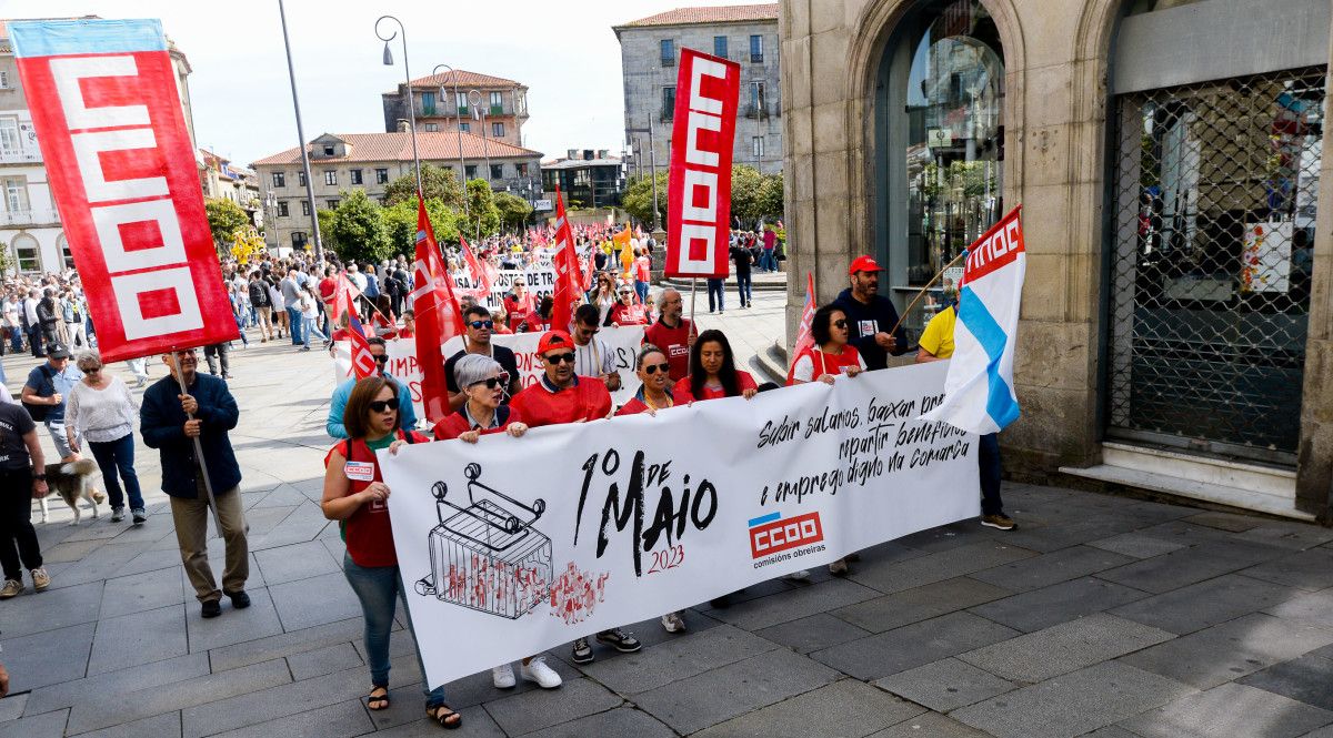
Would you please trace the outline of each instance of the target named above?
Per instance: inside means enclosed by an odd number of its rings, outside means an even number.
[[[451,169],[460,183],[484,179],[497,192],[541,194],[535,192],[541,184],[540,152],[457,131],[417,133],[416,139],[423,167]],[[389,183],[413,173],[412,136],[407,132],[324,133],[311,141],[308,153],[317,210],[337,208],[344,194],[356,189],[383,202]],[[304,248],[312,229],[300,149],[260,159],[252,167],[261,201],[271,206],[264,229],[269,249]]]

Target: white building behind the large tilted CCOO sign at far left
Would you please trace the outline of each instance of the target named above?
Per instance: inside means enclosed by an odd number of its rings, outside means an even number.
[[[96,16],[88,16],[89,20]],[[12,270],[39,273],[59,272],[73,266],[69,242],[60,225],[60,212],[51,196],[47,167],[37,145],[28,99],[19,80],[19,65],[9,44],[7,21],[0,21],[0,248],[4,248]],[[189,104],[189,60],[168,39],[168,52],[176,68],[185,128],[191,147],[195,141],[195,119]],[[197,153],[197,151],[196,151]],[[196,156],[200,176],[203,160]]]

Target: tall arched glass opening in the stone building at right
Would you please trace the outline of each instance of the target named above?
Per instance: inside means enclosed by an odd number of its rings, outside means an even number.
[[[880,286],[900,308],[1004,212],[1004,73],[998,29],[976,0],[922,0],[885,45],[873,225]],[[941,304],[906,316],[908,330]]]

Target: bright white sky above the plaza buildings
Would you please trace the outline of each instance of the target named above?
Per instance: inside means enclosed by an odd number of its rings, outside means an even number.
[[[401,37],[383,63],[375,21],[407,25],[412,77],[436,64],[528,85],[524,145],[544,159],[571,148],[619,152],[624,140],[620,44],[611,27],[728,0],[287,0],[307,141],[384,131],[380,96],[404,81]],[[0,17],[157,17],[185,52],[201,148],[237,164],[297,144],[277,0],[0,0]],[[385,20],[388,35],[397,25]]]

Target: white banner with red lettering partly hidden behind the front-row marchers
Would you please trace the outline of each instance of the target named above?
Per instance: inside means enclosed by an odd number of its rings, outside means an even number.
[[[629,398],[639,392],[639,374],[635,373],[635,364],[639,362],[639,346],[644,342],[644,326],[633,325],[625,328],[603,328],[597,337],[607,344],[611,354],[616,357],[616,369],[620,372],[620,389],[611,393],[616,405],[629,402]],[[541,361],[537,360],[537,341],[541,333],[513,333],[505,336],[492,336],[496,345],[511,349],[519,362],[519,384],[528,386],[541,376]],[[421,366],[416,360],[416,338],[396,338],[387,341],[389,350],[389,364],[385,370],[395,378],[408,384],[412,390],[412,408],[419,418],[425,417],[421,405]],[[448,358],[463,350],[463,338],[455,337],[444,344],[444,357]],[[351,344],[339,341],[333,352],[333,381],[341,384],[352,376]]]

